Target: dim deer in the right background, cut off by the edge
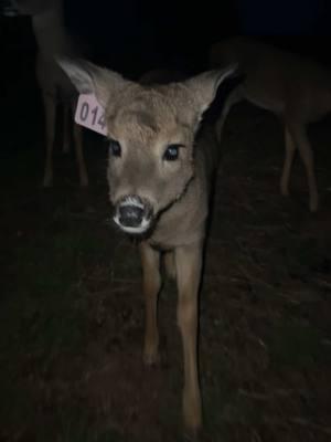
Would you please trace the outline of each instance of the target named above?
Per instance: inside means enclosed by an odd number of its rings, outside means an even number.
[[[244,81],[228,95],[216,123],[218,141],[229,109],[243,99],[279,116],[285,127],[286,146],[280,192],[289,196],[291,167],[298,149],[308,180],[309,209],[316,212],[319,193],[307,125],[331,110],[330,74],[313,60],[253,38],[229,38],[211,46],[210,67],[234,62],[238,63]]]

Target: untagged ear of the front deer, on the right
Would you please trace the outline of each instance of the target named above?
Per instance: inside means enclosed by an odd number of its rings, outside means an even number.
[[[199,112],[199,119],[202,114],[210,107],[216,96],[220,84],[233,75],[237,70],[237,64],[229,65],[221,71],[207,71],[199,74],[184,82],[185,86],[194,96],[196,103],[196,110]]]

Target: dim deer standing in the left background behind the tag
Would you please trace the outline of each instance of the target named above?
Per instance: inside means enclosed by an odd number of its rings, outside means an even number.
[[[53,182],[53,147],[57,104],[63,106],[63,151],[70,149],[71,130],[75,144],[81,186],[88,186],[88,175],[83,154],[82,127],[73,120],[77,93],[55,61],[56,56],[82,56],[82,48],[68,34],[64,25],[62,0],[15,0],[20,14],[31,15],[38,53],[35,71],[42,93],[46,158],[43,186]],[[84,51],[83,51],[84,52]]]

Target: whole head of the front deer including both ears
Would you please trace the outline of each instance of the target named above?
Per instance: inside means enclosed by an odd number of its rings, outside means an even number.
[[[218,83],[234,67],[146,87],[89,63],[60,64],[78,91],[95,93],[106,110],[114,221],[125,232],[147,233],[194,178],[194,135]]]

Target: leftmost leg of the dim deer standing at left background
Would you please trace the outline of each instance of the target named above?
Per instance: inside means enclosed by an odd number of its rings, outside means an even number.
[[[49,187],[53,181],[53,146],[55,135],[56,102],[53,95],[43,92],[45,117],[46,162],[43,186]]]

